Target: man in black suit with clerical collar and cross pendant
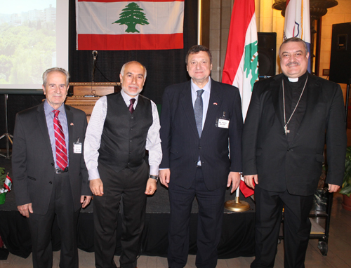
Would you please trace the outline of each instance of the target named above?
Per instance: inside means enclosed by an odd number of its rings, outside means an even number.
[[[326,142],[329,192],[343,181],[346,132],[337,83],[307,72],[305,42],[279,49],[283,74],[255,83],[243,133],[244,179],[255,188],[256,260],[273,267],[284,206],[284,267],[305,267],[308,218]],[[255,186],[256,183],[256,186]]]

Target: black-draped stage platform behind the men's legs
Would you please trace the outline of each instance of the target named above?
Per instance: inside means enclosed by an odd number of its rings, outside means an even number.
[[[0,159],[0,167],[10,172],[11,161]],[[13,185],[15,187],[15,185]],[[147,197],[145,229],[142,237],[141,255],[152,255],[166,257],[168,247],[168,222],[169,222],[169,199],[168,190],[157,185],[158,189],[154,196]],[[38,192],[40,194],[40,192]],[[225,201],[234,199],[228,189]],[[254,255],[254,215],[255,205],[248,198],[241,199],[248,202],[251,209],[244,213],[232,213],[224,209],[223,232],[218,246],[220,258],[251,257]],[[93,201],[92,201],[93,202]],[[190,218],[190,249],[189,254],[196,254],[197,246],[197,201],[192,206]],[[120,216],[119,216],[120,217]],[[78,222],[78,247],[87,252],[94,251],[94,223],[93,203],[86,209],[82,209]],[[55,221],[52,229],[53,250],[60,250],[60,229]],[[6,202],[0,205],[0,236],[10,253],[20,257],[28,257],[31,253],[32,242],[29,234],[27,220],[18,212],[15,205],[15,194],[13,191],[6,194]],[[121,252],[121,220],[119,220],[117,232],[116,255]]]

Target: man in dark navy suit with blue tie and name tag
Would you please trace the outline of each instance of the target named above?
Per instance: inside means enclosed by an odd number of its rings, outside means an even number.
[[[237,88],[210,78],[208,48],[192,46],[185,58],[190,81],[168,86],[161,112],[161,183],[168,187],[171,218],[168,266],[185,267],[192,202],[199,203],[197,267],[214,268],[223,222],[225,189],[241,172],[241,99]]]

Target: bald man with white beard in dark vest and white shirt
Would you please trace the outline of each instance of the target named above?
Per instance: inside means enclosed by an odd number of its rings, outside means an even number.
[[[117,215],[122,201],[121,268],[134,268],[145,222],[146,195],[157,189],[161,162],[157,107],[139,93],[146,68],[127,62],[120,93],[100,98],[86,130],[84,159],[94,197],[95,266],[116,267]],[[150,173],[145,163],[149,151]],[[145,189],[146,187],[146,189]]]

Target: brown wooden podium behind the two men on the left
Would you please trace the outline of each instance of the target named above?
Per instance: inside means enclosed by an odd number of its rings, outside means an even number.
[[[121,83],[69,83],[66,105],[81,109],[89,121],[95,102],[102,96],[121,91]]]

